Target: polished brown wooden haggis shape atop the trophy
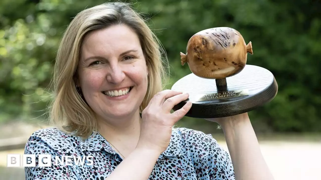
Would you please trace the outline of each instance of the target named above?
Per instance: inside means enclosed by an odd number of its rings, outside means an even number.
[[[253,54],[252,43],[245,43],[239,31],[229,27],[202,30],[193,35],[186,54],[180,53],[181,64],[201,78],[225,78],[243,70],[247,53]]]

